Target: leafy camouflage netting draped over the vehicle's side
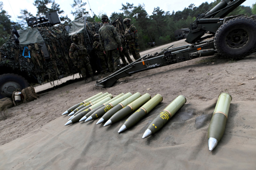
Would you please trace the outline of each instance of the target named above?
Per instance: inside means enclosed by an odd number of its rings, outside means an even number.
[[[94,42],[93,35],[98,33],[100,26],[101,24],[98,23],[86,22],[86,29],[80,34],[84,39],[82,43],[89,54]],[[72,42],[65,26],[35,29],[38,29],[45,41],[49,57],[44,57],[42,46],[39,43],[19,45],[15,43],[14,35],[11,35],[9,40],[0,47],[0,67],[8,69],[7,73],[22,75],[28,80],[35,78],[36,83],[39,84],[78,73],[77,68],[69,59],[69,48]],[[24,48],[24,56],[29,56],[30,52],[31,58],[23,57]]]

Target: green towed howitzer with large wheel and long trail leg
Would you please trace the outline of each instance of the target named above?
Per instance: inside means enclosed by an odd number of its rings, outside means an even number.
[[[243,15],[226,17],[246,0],[223,0],[190,24],[186,36],[189,45],[160,53],[145,55],[126,67],[96,82],[96,86],[112,87],[119,78],[140,71],[219,53],[223,57],[240,59],[256,50],[256,17]],[[207,34],[207,36],[204,36]],[[211,39],[213,37],[213,39]],[[140,61],[142,60],[142,61]]]

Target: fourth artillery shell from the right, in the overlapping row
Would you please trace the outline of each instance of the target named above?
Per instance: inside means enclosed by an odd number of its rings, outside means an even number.
[[[132,113],[134,110],[137,110],[139,107],[141,107],[144,103],[149,101],[151,99],[151,96],[149,93],[145,93],[135,101],[128,104],[126,107],[122,108],[121,110],[117,111],[107,122],[104,124],[104,126],[109,126],[126,116],[128,116],[130,113]]]

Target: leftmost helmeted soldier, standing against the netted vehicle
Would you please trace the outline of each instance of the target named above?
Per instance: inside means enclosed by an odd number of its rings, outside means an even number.
[[[85,82],[88,83],[91,80],[95,80],[93,76],[93,70],[91,69],[90,61],[88,58],[87,50],[79,43],[78,34],[73,34],[71,36],[73,43],[69,49],[69,57],[71,58],[73,64],[80,70],[82,77],[85,79]],[[86,78],[86,69],[91,76]]]

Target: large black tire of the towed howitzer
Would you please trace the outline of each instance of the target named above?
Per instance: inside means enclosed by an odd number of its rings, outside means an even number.
[[[215,36],[214,46],[223,57],[241,59],[256,50],[256,20],[237,17],[222,24]]]

